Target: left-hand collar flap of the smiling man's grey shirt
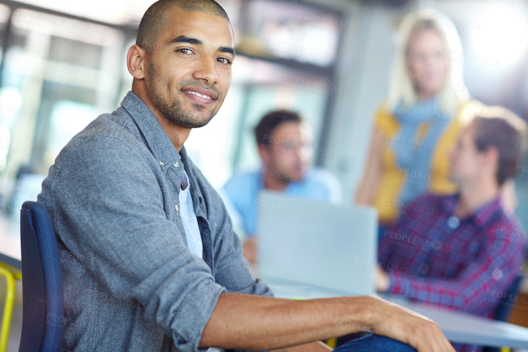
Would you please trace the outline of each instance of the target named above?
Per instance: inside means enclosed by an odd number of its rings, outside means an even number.
[[[136,123],[150,152],[158,162],[168,166],[181,160],[176,147],[143,100],[130,90],[121,101],[121,106],[127,110]]]

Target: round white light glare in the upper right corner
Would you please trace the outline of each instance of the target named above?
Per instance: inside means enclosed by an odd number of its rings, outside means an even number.
[[[504,66],[515,61],[528,42],[528,26],[520,14],[506,8],[494,8],[479,17],[473,45],[480,57],[499,60]]]

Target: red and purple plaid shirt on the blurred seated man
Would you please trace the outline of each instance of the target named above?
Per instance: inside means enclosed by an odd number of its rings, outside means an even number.
[[[387,292],[493,318],[520,272],[526,232],[498,196],[466,218],[454,217],[458,197],[422,193],[382,234],[378,261],[389,273]]]

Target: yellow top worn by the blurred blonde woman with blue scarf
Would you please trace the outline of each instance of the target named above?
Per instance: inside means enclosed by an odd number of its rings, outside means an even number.
[[[445,120],[446,128],[437,140],[437,147],[432,150],[429,175],[416,179],[418,182],[428,182],[429,191],[435,194],[450,194],[457,192],[452,187],[449,180],[449,150],[457,143],[460,130],[469,126],[475,109],[482,106],[477,100],[469,100],[458,108],[456,114]],[[416,140],[423,141],[430,123],[425,121],[417,129]],[[442,122],[444,123],[444,122]],[[409,177],[409,173],[397,164],[396,154],[391,149],[391,143],[396,143],[391,139],[400,129],[398,119],[382,104],[375,113],[374,124],[380,129],[382,151],[381,151],[381,179],[378,190],[375,194],[365,199],[369,205],[378,209],[380,224],[391,224],[394,219],[403,213],[404,205],[398,201],[398,196],[405,182],[414,179]],[[410,144],[412,147],[412,142]]]

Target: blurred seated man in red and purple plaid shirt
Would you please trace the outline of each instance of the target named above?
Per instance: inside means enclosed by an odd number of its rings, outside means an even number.
[[[446,181],[459,192],[424,192],[399,205],[404,211],[380,239],[383,270],[378,269],[376,286],[379,292],[493,318],[497,304],[515,304],[502,300],[524,259],[526,232],[515,215],[504,212],[499,189],[522,160],[526,125],[501,107],[487,107],[474,118],[478,123],[466,127],[450,151]]]

